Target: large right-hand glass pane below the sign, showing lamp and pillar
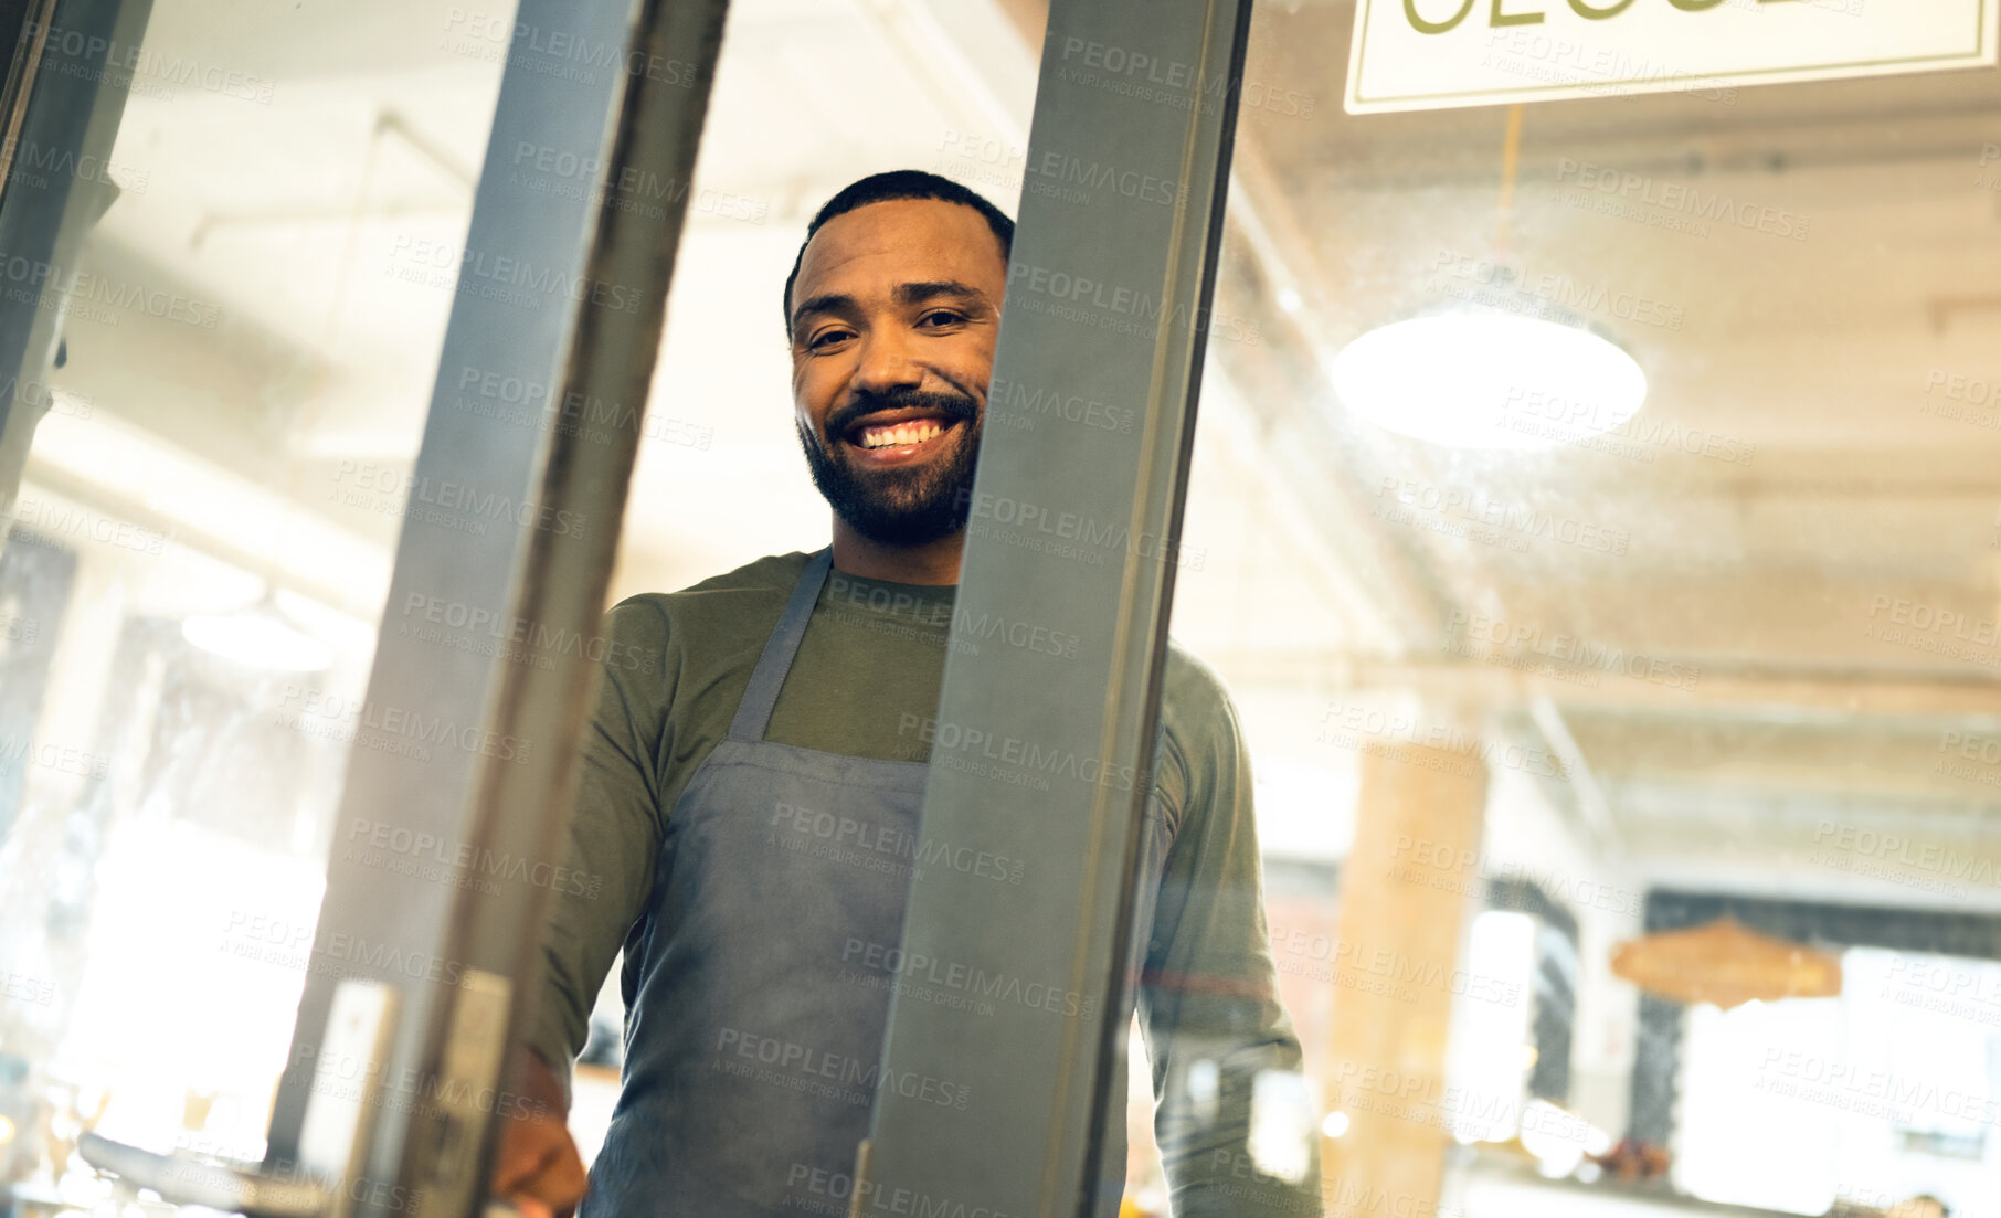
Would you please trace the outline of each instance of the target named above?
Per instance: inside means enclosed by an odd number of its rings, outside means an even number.
[[[1253,26],[1175,614],[1329,1212],[1991,1212],[2001,80],[1351,116],[1353,20]]]

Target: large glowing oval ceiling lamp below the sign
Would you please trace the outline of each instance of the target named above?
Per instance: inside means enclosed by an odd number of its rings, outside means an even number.
[[[1553,448],[1633,418],[1647,374],[1583,324],[1451,308],[1369,330],[1329,374],[1369,422],[1455,448]]]

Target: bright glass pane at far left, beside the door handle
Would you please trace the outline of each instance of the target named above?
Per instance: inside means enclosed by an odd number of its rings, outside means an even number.
[[[256,1160],[310,960],[508,4],[158,0],[24,380],[0,554],[0,1180]],[[88,74],[50,30],[42,74]],[[102,168],[102,172],[98,172]],[[16,176],[16,182],[22,178]],[[62,270],[72,268],[58,268]]]

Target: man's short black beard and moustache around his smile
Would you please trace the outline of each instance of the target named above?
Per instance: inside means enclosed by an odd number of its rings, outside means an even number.
[[[980,454],[980,416],[972,398],[918,390],[856,394],[828,414],[826,436],[840,436],[864,414],[908,408],[936,410],[958,424],[940,436],[948,448],[916,466],[858,470],[836,442],[822,442],[806,424],[796,424],[806,470],[826,506],[878,546],[922,546],[948,538],[966,526],[972,512],[972,466]]]

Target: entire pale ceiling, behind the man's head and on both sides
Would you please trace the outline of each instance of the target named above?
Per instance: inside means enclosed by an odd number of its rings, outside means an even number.
[[[30,484],[172,522],[370,620],[396,502],[332,492],[416,450],[450,306],[430,272],[466,230],[498,90],[484,34],[506,20],[498,2],[158,0],[160,56],[238,68],[268,102],[134,96],[112,158],[128,190],[90,258],[220,324],[72,318],[58,384],[260,508],[218,522],[88,446],[38,452]],[[2001,862],[2001,764],[1941,752],[2001,738],[2001,406],[1937,410],[1959,406],[1953,376],[2001,386],[2001,194],[1977,184],[2001,76],[1531,104],[1503,216],[1505,110],[1343,114],[1351,22],[1341,0],[1257,10],[1249,78],[1317,104],[1241,116],[1219,310],[1263,340],[1213,344],[1187,528],[1205,562],[1177,588],[1177,636],[1245,706],[1267,840],[1343,848],[1331,808],[1355,758],[1315,744],[1323,708],[1415,690],[1575,758],[1547,798],[1637,876],[2001,908],[1993,880],[1949,898],[1825,852],[1829,824],[1905,826]],[[804,220],[894,166],[1013,210],[1039,46],[1035,0],[734,4],[696,186],[758,206],[692,210],[650,406],[686,426],[642,450],[618,594],[824,540],[774,316]],[[1577,206],[1579,166],[1775,208],[1805,238],[1673,230],[1647,202],[1601,214]],[[1565,284],[1645,368],[1613,450],[1427,446],[1333,398],[1347,340],[1495,266]],[[1527,524],[1453,536],[1465,512],[1427,502]],[[278,508],[294,524],[240,532]],[[1623,552],[1565,542],[1583,534]],[[1883,638],[1937,610],[1975,640]],[[1495,632],[1527,644],[1465,646]]]

